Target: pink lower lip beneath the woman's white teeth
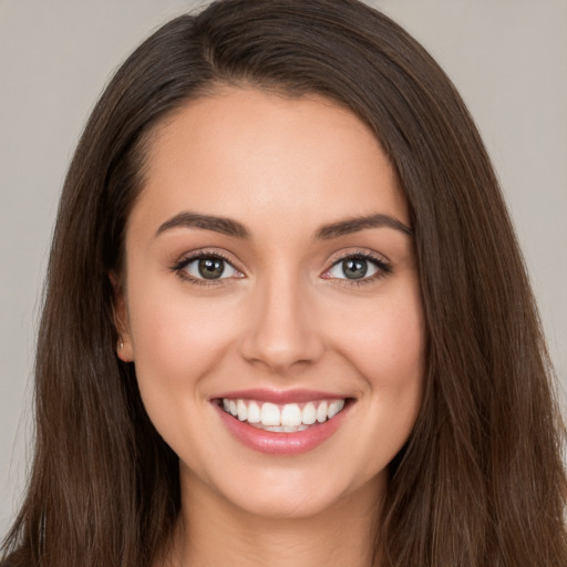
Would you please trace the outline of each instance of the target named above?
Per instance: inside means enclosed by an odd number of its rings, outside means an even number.
[[[350,410],[347,404],[334,417],[323,423],[310,425],[307,430],[293,433],[280,433],[254,427],[226,413],[220,406],[217,410],[228,431],[240,442],[254,451],[271,455],[298,455],[307,453],[324,443],[341,425]]]

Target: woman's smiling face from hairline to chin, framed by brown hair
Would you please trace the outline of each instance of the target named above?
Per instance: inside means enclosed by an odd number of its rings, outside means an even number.
[[[330,101],[227,89],[158,127],[120,355],[184,494],[279,517],[380,497],[422,399],[406,227],[377,140]]]

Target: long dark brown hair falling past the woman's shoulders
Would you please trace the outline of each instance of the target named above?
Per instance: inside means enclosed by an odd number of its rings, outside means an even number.
[[[4,540],[14,566],[148,566],[179,512],[178,462],[115,355],[109,274],[155,126],[218,84],[339,102],[405,194],[427,329],[415,429],[390,465],[383,567],[565,566],[564,427],[508,214],[461,97],[355,0],[223,0],[146,40],[85,127],[61,198],[35,364],[37,443]],[[377,511],[378,514],[378,511]],[[377,551],[378,554],[378,551]]]

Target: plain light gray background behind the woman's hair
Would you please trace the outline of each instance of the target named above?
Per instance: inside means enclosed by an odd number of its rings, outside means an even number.
[[[150,31],[204,3],[0,0],[0,535],[21,496],[31,453],[41,286],[78,136],[116,65]],[[518,231],[563,390],[567,0],[373,4],[437,59],[480,126]]]

